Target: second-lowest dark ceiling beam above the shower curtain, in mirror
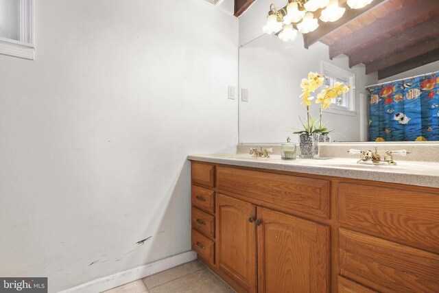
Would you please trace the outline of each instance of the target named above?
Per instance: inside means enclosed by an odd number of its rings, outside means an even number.
[[[405,60],[416,58],[423,54],[427,54],[430,51],[439,49],[439,36],[426,40],[423,43],[418,43],[407,47],[400,51],[391,52],[390,54],[383,56],[377,60],[373,60],[366,64],[366,74],[379,71],[384,68],[392,67]]]

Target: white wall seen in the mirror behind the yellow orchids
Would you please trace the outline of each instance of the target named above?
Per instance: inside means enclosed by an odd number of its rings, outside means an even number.
[[[366,75],[364,65],[349,69],[348,58],[343,55],[329,60],[329,48],[323,43],[305,49],[300,34],[289,43],[281,42],[274,35],[261,36],[270,2],[255,2],[239,19],[239,43],[245,44],[239,49],[239,83],[241,88],[248,89],[249,97],[249,102],[239,104],[239,141],[274,143],[285,141],[287,136],[298,141],[292,128],[302,128],[299,116],[306,117],[306,108],[300,104],[300,80],[307,77],[309,71],[321,72],[322,60],[355,73],[355,115],[324,113],[328,127],[338,133],[333,134],[332,139],[364,139],[360,136],[360,126],[366,127],[367,123],[366,117],[360,121],[359,94],[365,93],[366,84],[376,82],[376,75]],[[278,2],[275,2],[278,8],[285,5],[285,1]],[[318,108],[313,105],[311,114],[317,116]]]

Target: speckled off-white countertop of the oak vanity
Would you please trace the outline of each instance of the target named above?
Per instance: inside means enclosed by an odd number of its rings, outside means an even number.
[[[397,161],[397,165],[394,166],[363,165],[357,164],[356,158],[296,159],[294,161],[285,161],[278,154],[271,155],[270,158],[256,158],[250,154],[243,153],[199,154],[188,156],[187,159],[224,165],[439,188],[439,163],[423,161]]]

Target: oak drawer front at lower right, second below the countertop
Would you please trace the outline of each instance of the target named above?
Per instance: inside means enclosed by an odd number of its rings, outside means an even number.
[[[439,292],[439,255],[340,229],[340,274],[379,292]]]

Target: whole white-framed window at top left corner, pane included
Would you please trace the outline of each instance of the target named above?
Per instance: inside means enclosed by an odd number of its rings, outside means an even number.
[[[0,54],[34,60],[32,0],[0,0]]]

